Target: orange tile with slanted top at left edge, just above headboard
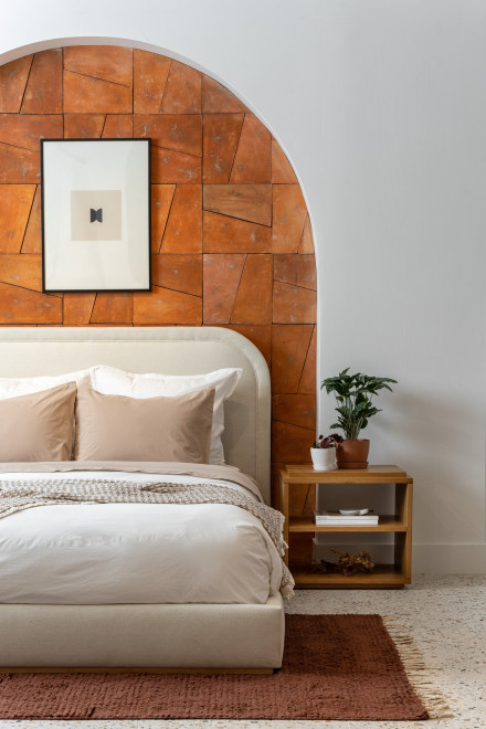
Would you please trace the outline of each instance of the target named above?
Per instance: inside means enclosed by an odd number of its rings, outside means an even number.
[[[62,324],[60,296],[0,284],[0,324]]]

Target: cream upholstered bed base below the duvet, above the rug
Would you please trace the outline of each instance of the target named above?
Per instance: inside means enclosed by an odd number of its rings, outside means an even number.
[[[284,620],[279,594],[263,605],[0,604],[0,666],[271,673],[282,666]]]

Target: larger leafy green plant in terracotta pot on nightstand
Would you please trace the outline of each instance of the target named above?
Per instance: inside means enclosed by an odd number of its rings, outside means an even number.
[[[327,394],[334,392],[338,402],[336,411],[339,418],[331,425],[340,427],[345,433],[342,443],[336,445],[338,468],[366,468],[370,442],[367,439],[358,439],[358,435],[368,425],[371,415],[380,412],[371,402],[373,395],[383,388],[391,392],[389,382],[397,383],[397,380],[348,372],[349,367],[338,376],[323,380],[320,389],[325,388]]]

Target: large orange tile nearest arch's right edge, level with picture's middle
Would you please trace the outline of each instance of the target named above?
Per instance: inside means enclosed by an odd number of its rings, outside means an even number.
[[[274,184],[272,250],[297,253],[307,209],[298,184]]]

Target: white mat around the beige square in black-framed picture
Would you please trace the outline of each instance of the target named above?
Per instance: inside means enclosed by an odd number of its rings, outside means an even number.
[[[45,290],[148,289],[148,140],[43,145]],[[72,190],[122,190],[119,241],[71,240]]]

